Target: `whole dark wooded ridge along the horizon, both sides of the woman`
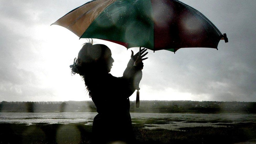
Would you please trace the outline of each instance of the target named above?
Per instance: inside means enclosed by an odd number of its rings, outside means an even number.
[[[256,113],[256,102],[141,100],[130,102],[132,113]],[[0,112],[96,112],[92,101],[0,102]]]

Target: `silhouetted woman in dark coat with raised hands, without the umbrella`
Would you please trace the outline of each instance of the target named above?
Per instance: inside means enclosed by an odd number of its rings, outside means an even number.
[[[146,49],[142,49],[143,54]],[[138,87],[142,78],[142,58],[131,54],[131,59],[122,77],[109,72],[113,66],[111,51],[106,45],[85,43],[71,65],[72,73],[84,78],[85,85],[98,114],[93,120],[93,142],[106,143],[123,141],[132,143],[129,97]]]

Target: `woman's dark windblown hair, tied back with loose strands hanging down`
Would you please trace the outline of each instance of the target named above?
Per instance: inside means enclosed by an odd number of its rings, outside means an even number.
[[[77,73],[84,79],[90,97],[92,96],[93,82],[99,72],[95,60],[104,56],[106,48],[108,47],[103,44],[93,45],[93,41],[84,43],[77,58],[74,58],[73,64],[70,65],[71,73]]]

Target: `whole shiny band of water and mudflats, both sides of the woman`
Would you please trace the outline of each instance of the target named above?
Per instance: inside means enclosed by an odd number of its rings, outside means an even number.
[[[0,123],[91,125],[97,113],[0,113]],[[143,124],[148,129],[179,129],[196,126],[226,126],[240,122],[256,123],[256,114],[181,114],[181,113],[131,113],[133,124]]]

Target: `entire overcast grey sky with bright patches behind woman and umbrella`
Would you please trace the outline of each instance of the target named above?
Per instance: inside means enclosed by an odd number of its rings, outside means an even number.
[[[0,102],[90,100],[79,75],[71,76],[87,42],[54,23],[87,1],[0,0]],[[140,83],[141,100],[256,102],[256,1],[182,0],[227,33],[218,49],[148,50]],[[131,51],[106,44],[122,76]],[[136,51],[137,49],[134,49]],[[134,93],[130,100],[136,99]]]

